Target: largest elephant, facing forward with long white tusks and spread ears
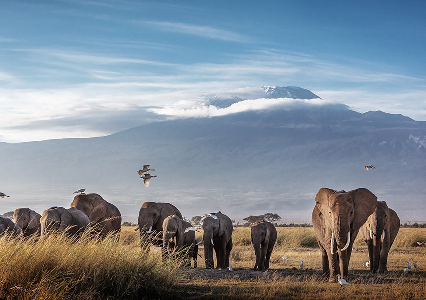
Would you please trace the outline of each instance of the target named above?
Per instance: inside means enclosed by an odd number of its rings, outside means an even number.
[[[323,275],[337,282],[338,274],[347,277],[353,242],[377,207],[377,197],[366,188],[348,192],[321,188],[315,202],[312,223],[321,248]]]

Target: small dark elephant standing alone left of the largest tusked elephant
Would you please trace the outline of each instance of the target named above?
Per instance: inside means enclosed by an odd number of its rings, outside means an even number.
[[[264,271],[269,268],[270,255],[275,245],[277,233],[276,228],[269,222],[262,220],[251,226],[251,242],[256,254],[254,270]]]

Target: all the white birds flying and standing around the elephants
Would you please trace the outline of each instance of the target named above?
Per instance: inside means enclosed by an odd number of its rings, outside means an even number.
[[[146,187],[148,187],[149,186],[149,181],[151,180],[151,178],[155,178],[155,177],[157,177],[157,176],[152,176],[151,174],[149,174],[149,173],[146,173],[147,171],[155,171],[154,169],[149,169],[149,167],[150,167],[150,164],[145,164],[145,165],[143,165],[143,168],[141,168],[140,170],[138,170],[137,172],[138,172],[138,174],[139,174],[139,176],[141,176],[140,178],[141,179],[143,179],[143,183],[145,184],[145,186]],[[373,166],[373,165],[366,165],[365,166],[365,169],[366,170],[369,170],[369,169],[375,169],[375,167]],[[80,193],[80,194],[82,194],[82,193],[84,193],[86,190],[84,189],[84,188],[81,188],[81,189],[79,189],[79,190],[76,190],[76,191],[74,191],[74,194],[75,193]],[[6,195],[5,193],[2,193],[2,192],[0,192],[0,197],[1,198],[4,198],[4,197],[8,197],[8,198],[10,198],[10,196],[8,196],[8,195]],[[215,216],[214,214],[206,214],[206,215],[204,215],[202,218],[201,218],[201,220],[200,221],[202,221],[203,219],[205,219],[206,217],[212,217],[212,218],[214,218],[214,219],[217,219],[217,216]],[[189,231],[197,231],[197,232],[200,232],[198,229],[200,228],[200,226],[193,226],[193,227],[189,227],[189,228],[186,228],[185,229],[185,233],[187,233],[187,232],[189,232]],[[417,241],[417,244],[419,245],[419,246],[423,246],[423,245],[426,245],[426,242],[419,242],[419,241]],[[214,245],[214,244],[213,244]],[[158,249],[154,246],[154,250],[155,251],[158,251]],[[248,253],[248,252],[247,252]],[[311,256],[312,255],[312,253],[309,251],[308,252],[309,253],[309,256]],[[321,255],[321,250],[318,250],[318,253]],[[284,260],[284,261],[287,261],[287,257],[286,256],[283,256],[283,255],[281,255],[281,258],[282,258],[282,260]],[[369,267],[370,266],[370,262],[369,261],[367,261],[366,263],[365,262],[363,262],[362,263],[362,265],[364,266],[364,267]],[[414,266],[414,269],[416,269],[417,267],[418,267],[418,265],[417,265],[417,263],[413,263],[413,266]],[[301,261],[301,264],[300,264],[300,269],[303,269],[304,268],[304,263],[303,263],[303,260]],[[411,269],[412,269],[412,266],[409,264],[409,262],[408,262],[408,267],[407,268],[405,268],[404,269],[404,272],[405,272],[405,274],[408,274],[408,272],[409,271],[411,271]],[[230,263],[229,263],[229,270],[230,271],[232,271],[233,269],[231,268],[231,265],[230,265]],[[342,286],[344,286],[344,285],[349,285],[349,283],[348,282],[346,282],[346,280],[344,280],[344,279],[340,279],[341,278],[341,276],[340,275],[338,275],[338,282],[340,283],[340,285],[342,285]]]

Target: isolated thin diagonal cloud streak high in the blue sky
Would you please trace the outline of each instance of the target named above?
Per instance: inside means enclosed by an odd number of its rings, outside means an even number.
[[[210,26],[193,25],[187,23],[161,22],[161,21],[135,21],[135,23],[148,25],[157,30],[167,31],[179,34],[188,34],[198,37],[235,41],[249,42],[249,38],[242,34],[235,33],[229,30],[218,29]]]

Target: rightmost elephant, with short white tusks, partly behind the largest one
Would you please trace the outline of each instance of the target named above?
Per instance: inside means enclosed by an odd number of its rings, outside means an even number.
[[[378,201],[377,208],[359,230],[368,245],[371,272],[387,272],[387,255],[399,232],[401,221],[396,212]]]

